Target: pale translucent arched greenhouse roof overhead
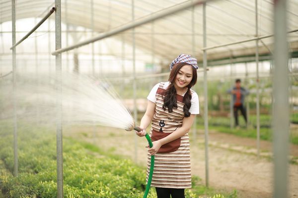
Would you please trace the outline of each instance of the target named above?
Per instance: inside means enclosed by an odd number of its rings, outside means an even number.
[[[0,23],[11,20],[11,0],[1,0]],[[183,0],[135,0],[135,19],[176,7]],[[53,0],[16,0],[16,19],[43,17]],[[177,54],[193,54],[202,61],[203,9],[189,8],[135,28],[136,48],[168,62]],[[206,5],[207,47],[252,39],[256,36],[255,0],[212,0]],[[298,29],[298,0],[288,1],[288,30]],[[93,12],[93,20],[92,20]],[[131,0],[63,0],[62,22],[93,29],[100,34],[132,22]],[[194,19],[194,20],[192,20]],[[93,21],[93,23],[92,23]],[[194,22],[194,25],[192,25]],[[273,34],[273,2],[258,0],[258,36]],[[193,29],[194,27],[194,29]],[[132,43],[132,31],[113,36]],[[96,34],[96,33],[95,33]],[[193,37],[194,35],[194,37]],[[193,49],[192,41],[195,40]],[[298,51],[298,32],[289,34],[290,49]],[[153,41],[153,42],[152,42]],[[272,52],[273,37],[259,42],[259,53]],[[209,60],[255,54],[255,41],[208,50]],[[65,46],[63,46],[65,47]],[[194,51],[193,51],[194,50]]]

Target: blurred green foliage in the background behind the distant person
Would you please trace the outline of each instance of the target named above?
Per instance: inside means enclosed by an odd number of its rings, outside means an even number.
[[[236,77],[234,77],[236,79]],[[146,99],[152,87],[159,82],[166,82],[167,76],[156,78],[144,78],[137,80],[136,97],[138,99]],[[249,104],[250,109],[256,109],[256,80],[255,79],[241,79],[241,86],[248,89],[250,94],[246,97],[246,102]],[[291,92],[293,98],[297,99],[298,93],[296,79],[290,81],[294,91]],[[133,99],[133,82],[131,80],[115,81],[111,83],[116,92],[122,99]],[[202,79],[198,79],[196,85],[192,90],[196,91],[199,99],[204,99],[204,87]],[[227,90],[234,86],[234,80],[211,80],[208,81],[208,108],[210,111],[221,111],[229,113],[230,108],[230,95]],[[259,97],[260,97],[260,110],[264,113],[270,113],[272,110],[272,81],[271,79],[261,78],[259,80]],[[297,106],[297,104],[295,104]],[[200,102],[200,107],[203,109],[204,102]]]

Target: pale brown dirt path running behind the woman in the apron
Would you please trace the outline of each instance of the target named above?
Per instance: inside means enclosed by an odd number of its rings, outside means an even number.
[[[137,163],[146,166],[145,138],[138,138],[134,132],[126,132],[113,128],[68,128],[66,136],[85,140],[105,150],[114,151],[125,157],[135,159],[135,140],[137,140]],[[205,150],[204,135],[199,131],[197,144],[191,142],[192,174],[198,175],[205,183]],[[209,181],[210,186],[223,191],[237,190],[239,198],[271,198],[273,164],[268,157],[258,158],[255,140],[236,137],[229,134],[210,132],[209,147]],[[269,153],[271,144],[261,141],[262,152]],[[234,149],[236,148],[236,149]],[[297,149],[296,146],[293,147]],[[293,154],[297,153],[294,151]],[[297,155],[296,155],[297,156]],[[289,195],[298,197],[298,165],[289,165]]]

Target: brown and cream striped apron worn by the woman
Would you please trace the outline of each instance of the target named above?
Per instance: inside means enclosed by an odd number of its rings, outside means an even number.
[[[152,118],[150,138],[152,141],[157,135],[168,135],[182,126],[183,96],[176,95],[178,108],[162,109],[165,89],[164,83],[160,83],[155,94],[155,112]],[[193,92],[191,90],[191,92]],[[156,135],[157,134],[157,135]],[[174,143],[173,143],[174,142]],[[188,133],[166,145],[163,145],[155,154],[155,164],[152,176],[152,187],[186,189],[191,188],[190,148]],[[163,148],[165,146],[165,148]],[[167,150],[170,150],[167,152]],[[148,152],[147,178],[148,182],[151,155]]]

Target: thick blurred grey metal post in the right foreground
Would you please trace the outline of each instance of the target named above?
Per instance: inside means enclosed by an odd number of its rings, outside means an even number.
[[[288,198],[289,70],[287,0],[274,1],[273,161],[274,198]]]

